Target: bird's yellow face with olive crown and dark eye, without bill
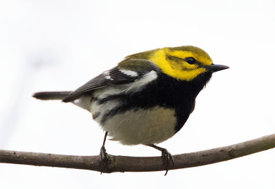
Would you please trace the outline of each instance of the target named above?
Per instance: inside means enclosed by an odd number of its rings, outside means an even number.
[[[156,50],[148,59],[170,77],[185,81],[191,81],[199,74],[207,72],[203,66],[212,64],[212,59],[205,51],[193,46],[162,48]]]

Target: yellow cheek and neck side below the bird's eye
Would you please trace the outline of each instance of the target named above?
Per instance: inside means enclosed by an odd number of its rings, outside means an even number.
[[[168,61],[166,59],[166,52],[167,49],[165,48],[157,50],[151,57],[149,57],[149,60],[156,63],[157,66],[159,66],[159,68],[161,68],[162,71],[165,74],[168,74],[170,77],[185,81],[191,81],[199,74],[206,72],[205,68],[198,68],[197,65],[190,65],[186,62],[176,63],[175,61]]]

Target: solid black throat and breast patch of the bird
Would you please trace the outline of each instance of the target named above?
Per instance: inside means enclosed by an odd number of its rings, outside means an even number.
[[[199,92],[210,81],[212,73],[199,74],[192,81],[179,81],[166,74],[159,73],[158,79],[148,84],[146,89],[140,92],[140,100],[144,102],[143,108],[149,108],[159,104],[164,108],[175,109],[178,132],[186,123],[189,115],[195,108],[195,99]]]

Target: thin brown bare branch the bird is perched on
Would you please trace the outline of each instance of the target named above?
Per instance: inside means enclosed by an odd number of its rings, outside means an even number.
[[[275,134],[234,145],[181,155],[174,155],[175,166],[170,170],[204,166],[227,161],[275,147]],[[113,156],[107,172],[148,172],[165,170],[161,157]],[[53,155],[35,152],[0,150],[0,163],[15,163],[32,166],[51,166],[100,171],[98,156]]]

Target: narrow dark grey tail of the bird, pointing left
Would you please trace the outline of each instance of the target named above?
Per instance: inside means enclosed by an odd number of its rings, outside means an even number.
[[[72,91],[36,92],[32,97],[41,100],[62,100]]]

